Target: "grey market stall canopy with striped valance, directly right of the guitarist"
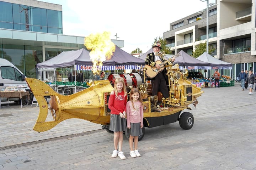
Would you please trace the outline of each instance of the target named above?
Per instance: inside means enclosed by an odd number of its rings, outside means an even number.
[[[210,63],[191,57],[183,50],[178,52],[175,56],[174,64],[179,64],[180,69],[184,67],[187,69],[209,69]]]

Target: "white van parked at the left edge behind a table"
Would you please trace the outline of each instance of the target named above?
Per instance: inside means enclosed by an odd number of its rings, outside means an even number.
[[[30,92],[28,97],[28,104],[32,103],[33,94],[29,89],[25,75],[8,60],[0,58],[0,90],[4,90],[5,87],[24,85],[27,86],[27,91]],[[19,98],[11,98],[10,100],[20,102]],[[1,98],[1,101],[7,101],[7,98]],[[26,100],[22,100],[22,104],[26,104]]]

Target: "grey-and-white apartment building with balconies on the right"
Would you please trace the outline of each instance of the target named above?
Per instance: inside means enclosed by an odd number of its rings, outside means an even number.
[[[217,0],[208,7],[209,49],[216,49],[211,55],[232,63],[233,77],[241,69],[256,72],[255,1]],[[206,24],[204,9],[170,23],[163,38],[173,54],[183,50],[191,55],[195,45],[206,42]],[[229,75],[229,71],[222,70],[222,74]]]

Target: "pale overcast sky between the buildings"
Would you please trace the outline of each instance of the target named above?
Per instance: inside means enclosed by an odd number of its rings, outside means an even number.
[[[62,5],[63,34],[88,36],[111,32],[124,40],[124,51],[144,52],[170,23],[206,8],[200,0],[41,0]],[[209,3],[215,0],[209,0]]]

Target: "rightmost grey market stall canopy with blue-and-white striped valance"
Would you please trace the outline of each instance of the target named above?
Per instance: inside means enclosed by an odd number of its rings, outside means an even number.
[[[210,63],[211,69],[232,69],[232,64],[221,61],[213,56],[204,52],[201,56],[197,57],[198,60]]]

